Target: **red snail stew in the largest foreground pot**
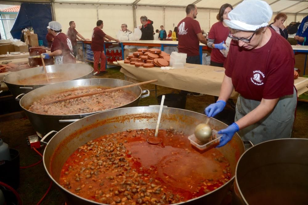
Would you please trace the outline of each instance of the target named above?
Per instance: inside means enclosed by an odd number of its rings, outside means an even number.
[[[228,182],[229,164],[217,149],[199,153],[186,135],[154,129],[127,130],[89,141],[65,162],[60,184],[106,204],[172,204],[204,195]]]

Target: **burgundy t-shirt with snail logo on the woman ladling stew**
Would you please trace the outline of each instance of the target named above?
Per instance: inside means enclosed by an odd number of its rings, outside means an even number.
[[[231,41],[225,75],[246,99],[261,101],[293,94],[294,53],[290,43],[270,29],[272,36],[261,48],[246,50]]]

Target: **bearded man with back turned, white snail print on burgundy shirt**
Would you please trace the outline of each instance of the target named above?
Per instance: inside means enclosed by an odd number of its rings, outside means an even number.
[[[186,18],[177,25],[179,39],[179,53],[187,53],[186,63],[200,64],[199,41],[207,44],[205,37],[202,35],[200,24],[197,18],[197,6],[188,4],[186,6]],[[190,93],[181,91],[183,95],[194,95],[195,97],[203,96],[200,93]]]

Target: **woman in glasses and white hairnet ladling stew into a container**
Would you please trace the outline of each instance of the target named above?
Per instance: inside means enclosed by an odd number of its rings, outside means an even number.
[[[291,45],[266,27],[270,6],[259,0],[241,2],[228,14],[231,41],[225,77],[218,101],[205,108],[206,115],[221,112],[233,88],[237,99],[235,123],[223,134],[218,147],[238,132],[243,140],[258,144],[291,137],[297,94],[294,88],[294,54]]]

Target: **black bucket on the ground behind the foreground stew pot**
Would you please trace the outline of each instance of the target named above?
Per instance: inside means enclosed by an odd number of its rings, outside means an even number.
[[[180,108],[185,109],[186,106],[186,96],[181,95],[180,93],[175,93],[173,91],[172,93],[164,94],[165,100],[164,105],[169,108]],[[158,104],[161,102],[161,98],[163,95],[157,96]]]

